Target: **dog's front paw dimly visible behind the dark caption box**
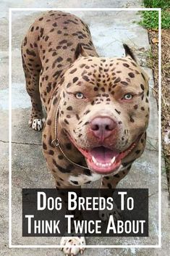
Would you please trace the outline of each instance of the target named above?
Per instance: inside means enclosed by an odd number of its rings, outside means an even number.
[[[122,216],[121,216],[121,210],[119,210],[115,204],[115,202],[113,202],[113,209],[112,210],[100,210],[98,212],[98,215],[99,215],[99,218],[102,220],[102,221],[107,221],[109,220],[109,217],[110,215],[113,215],[114,217],[114,220],[121,220],[122,219]]]

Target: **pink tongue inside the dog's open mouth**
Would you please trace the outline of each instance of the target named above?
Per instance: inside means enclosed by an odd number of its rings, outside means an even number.
[[[114,150],[107,149],[104,146],[98,146],[93,148],[90,151],[90,154],[92,157],[95,157],[95,160],[98,162],[106,163],[111,162],[112,158],[116,157],[119,153]]]

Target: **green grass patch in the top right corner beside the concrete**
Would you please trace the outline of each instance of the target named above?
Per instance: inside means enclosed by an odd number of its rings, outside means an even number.
[[[144,0],[147,8],[161,8],[161,28],[170,28],[170,1],[169,0]],[[143,20],[140,25],[148,29],[158,29],[158,11],[143,11]]]

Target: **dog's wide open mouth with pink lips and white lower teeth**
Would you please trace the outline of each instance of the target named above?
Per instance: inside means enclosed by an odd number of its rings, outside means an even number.
[[[75,141],[69,137],[73,144]],[[114,173],[119,166],[121,165],[122,159],[132,151],[132,149],[136,146],[139,141],[139,137],[137,141],[131,144],[128,149],[123,152],[117,152],[116,150],[112,150],[107,148],[106,146],[97,146],[93,149],[82,149],[81,147],[77,147],[77,149],[83,154],[85,160],[88,164],[88,168],[95,173],[100,173],[103,175],[107,175],[109,173]]]

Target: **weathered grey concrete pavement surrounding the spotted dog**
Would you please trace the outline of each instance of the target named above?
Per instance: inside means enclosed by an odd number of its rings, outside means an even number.
[[[61,256],[58,249],[8,249],[8,46],[7,46],[7,7],[98,7],[97,1],[1,1],[0,30],[0,146],[3,149],[1,161],[1,251],[0,255],[46,255]],[[67,4],[67,5],[66,5]],[[100,7],[139,7],[140,1],[100,1]],[[75,13],[75,12],[74,12]],[[156,100],[151,94],[153,86],[152,71],[148,70],[145,56],[149,49],[147,32],[137,25],[140,16],[135,12],[76,12],[88,22],[98,54],[114,57],[124,54],[122,43],[135,50],[141,65],[150,74],[150,126],[148,144],[143,157],[124,178],[120,187],[146,187],[150,191],[150,236],[147,239],[87,239],[88,244],[157,244],[158,243],[158,113]],[[41,133],[27,127],[30,100],[25,93],[25,80],[22,72],[20,44],[27,28],[39,12],[14,12],[12,15],[12,244],[59,244],[59,239],[22,238],[21,236],[21,189],[52,188],[54,181],[46,168],[41,152]],[[135,21],[135,22],[134,22]],[[162,186],[162,249],[87,249],[85,255],[168,255],[169,252],[169,201],[166,178]]]

